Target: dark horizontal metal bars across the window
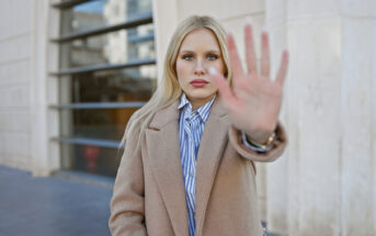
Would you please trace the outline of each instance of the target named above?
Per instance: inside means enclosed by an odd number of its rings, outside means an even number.
[[[75,5],[89,2],[90,0],[67,0],[52,3],[50,7],[55,10],[61,12],[62,10],[67,10],[69,8],[73,8]],[[151,1],[151,0],[150,0]],[[153,23],[152,12],[144,12],[137,16],[128,19],[124,22],[110,24],[105,26],[99,26],[94,29],[90,29],[87,31],[75,32],[66,35],[61,35],[61,31],[59,32],[58,37],[49,38],[49,42],[60,47],[60,44],[71,42],[75,40],[86,38],[89,36],[106,34],[111,32],[116,32],[121,30],[133,29],[136,26],[145,25]],[[130,43],[138,43],[144,41],[155,40],[155,33],[144,35],[144,36],[132,36],[128,42]],[[156,65],[157,59],[134,59],[124,64],[104,64],[104,65],[95,65],[95,66],[82,66],[82,67],[75,67],[68,69],[59,68],[57,71],[49,71],[48,75],[52,78],[61,80],[65,77],[83,74],[83,72],[94,72],[101,70],[115,70],[115,69],[125,69],[125,68],[137,68],[141,66],[148,65]],[[157,75],[156,75],[157,76]],[[141,108],[146,102],[87,102],[87,103],[65,103],[65,104],[49,104],[48,108],[50,110],[57,111],[60,113],[62,110],[78,110],[78,109],[124,109],[124,108]],[[73,145],[94,145],[100,147],[110,147],[110,148],[118,148],[121,142],[118,141],[110,141],[110,139],[98,139],[98,138],[82,138],[82,137],[67,137],[67,136],[53,136],[50,141],[58,142],[61,144],[73,144]],[[124,148],[124,147],[123,147]]]

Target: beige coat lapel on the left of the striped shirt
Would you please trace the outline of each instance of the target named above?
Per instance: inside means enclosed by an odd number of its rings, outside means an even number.
[[[185,190],[180,158],[178,101],[159,111],[146,130],[147,154],[175,235],[187,236]]]

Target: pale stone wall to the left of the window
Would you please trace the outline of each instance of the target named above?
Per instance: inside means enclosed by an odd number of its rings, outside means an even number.
[[[0,12],[0,164],[48,175],[58,167],[48,156],[56,117],[47,119],[47,91],[57,95],[47,79],[49,2],[3,0]]]

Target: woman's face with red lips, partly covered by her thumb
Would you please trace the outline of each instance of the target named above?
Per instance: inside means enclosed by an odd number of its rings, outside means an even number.
[[[217,91],[209,75],[210,67],[225,74],[225,61],[215,34],[207,29],[190,32],[179,49],[176,74],[193,109],[204,105]]]

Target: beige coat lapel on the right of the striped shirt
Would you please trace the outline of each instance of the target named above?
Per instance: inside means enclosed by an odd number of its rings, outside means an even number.
[[[228,116],[219,98],[213,104],[201,139],[196,166],[196,235],[202,235],[213,182],[228,141]]]

